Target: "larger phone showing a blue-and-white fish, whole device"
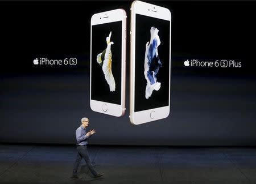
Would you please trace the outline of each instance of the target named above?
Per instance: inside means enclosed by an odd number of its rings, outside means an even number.
[[[131,5],[130,121],[138,125],[170,113],[171,12],[134,1]]]

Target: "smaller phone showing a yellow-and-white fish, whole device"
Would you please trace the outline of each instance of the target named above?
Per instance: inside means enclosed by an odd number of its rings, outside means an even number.
[[[90,108],[125,113],[126,12],[94,14],[90,25]]]

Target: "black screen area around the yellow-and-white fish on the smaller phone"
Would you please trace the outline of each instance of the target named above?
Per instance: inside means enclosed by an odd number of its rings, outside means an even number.
[[[110,41],[112,51],[112,74],[115,79],[115,91],[110,92],[102,65],[97,62],[97,55],[106,49],[106,37],[112,35]],[[92,100],[110,102],[121,105],[121,71],[122,71],[122,22],[113,22],[92,27]]]

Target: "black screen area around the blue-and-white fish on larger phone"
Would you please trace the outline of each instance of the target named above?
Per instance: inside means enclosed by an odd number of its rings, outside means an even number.
[[[146,99],[145,90],[147,80],[144,76],[144,59],[146,43],[150,42],[151,27],[158,28],[161,44],[158,46],[158,55],[162,63],[156,82],[161,83],[158,91],[153,91]],[[169,103],[169,58],[170,58],[170,21],[151,18],[136,14],[136,44],[135,44],[135,106],[134,111],[160,108]]]

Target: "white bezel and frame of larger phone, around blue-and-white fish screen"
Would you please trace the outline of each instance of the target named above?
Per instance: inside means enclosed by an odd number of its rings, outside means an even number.
[[[155,109],[147,109],[139,112],[134,112],[135,105],[135,30],[136,30],[136,14],[146,15],[158,19],[170,21],[170,69],[169,69],[169,99],[168,106],[163,106]],[[170,114],[170,87],[171,87],[171,12],[167,8],[155,6],[150,3],[134,1],[131,5],[131,32],[130,32],[130,121],[134,125],[139,125],[146,122],[156,121],[158,119],[167,118]],[[151,118],[151,113],[154,113],[154,118]]]

